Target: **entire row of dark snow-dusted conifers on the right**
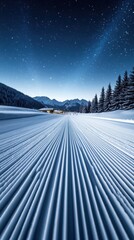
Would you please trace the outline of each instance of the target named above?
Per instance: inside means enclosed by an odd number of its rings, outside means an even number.
[[[92,102],[88,104],[86,112],[100,113],[122,109],[134,108],[134,67],[132,72],[128,75],[125,71],[123,78],[118,76],[114,89],[112,90],[111,84],[108,88],[102,87],[100,97],[97,94]]]

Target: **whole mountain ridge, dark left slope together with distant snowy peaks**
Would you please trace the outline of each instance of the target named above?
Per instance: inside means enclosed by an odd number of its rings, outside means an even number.
[[[46,96],[37,96],[32,98],[0,82],[0,105],[32,109],[52,107],[63,111],[83,112],[88,106],[88,101],[85,99],[80,100],[78,98],[58,101],[56,99],[50,99]]]

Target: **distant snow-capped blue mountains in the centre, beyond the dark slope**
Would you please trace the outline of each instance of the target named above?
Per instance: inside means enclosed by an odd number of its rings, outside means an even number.
[[[44,104],[46,107],[53,107],[56,109],[61,109],[64,111],[82,111],[88,105],[88,101],[85,99],[73,99],[73,100],[65,100],[63,102],[57,101],[56,99],[50,99],[48,97],[34,97],[36,101]]]

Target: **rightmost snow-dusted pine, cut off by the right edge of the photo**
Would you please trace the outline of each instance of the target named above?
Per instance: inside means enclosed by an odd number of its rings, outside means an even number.
[[[125,109],[134,108],[134,67],[129,76],[126,89],[125,103],[123,106],[125,107]]]

